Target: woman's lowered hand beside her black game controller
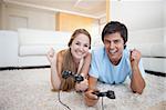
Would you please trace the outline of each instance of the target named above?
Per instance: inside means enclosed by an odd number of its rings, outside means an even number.
[[[75,90],[76,91],[85,91],[87,88],[89,88],[87,79],[84,79],[80,83],[75,84]]]

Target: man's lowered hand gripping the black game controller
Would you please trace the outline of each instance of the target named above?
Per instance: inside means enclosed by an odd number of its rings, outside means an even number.
[[[98,97],[96,94],[92,93],[94,91],[97,91],[97,90],[87,90],[84,93],[84,101],[85,101],[85,104],[89,107],[95,106],[98,101]]]

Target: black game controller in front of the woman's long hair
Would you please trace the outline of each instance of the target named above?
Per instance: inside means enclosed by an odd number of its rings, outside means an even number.
[[[72,77],[75,82],[81,82],[84,80],[84,78],[81,74],[76,74],[72,71],[65,70],[62,72],[62,78],[68,79],[69,77]]]

